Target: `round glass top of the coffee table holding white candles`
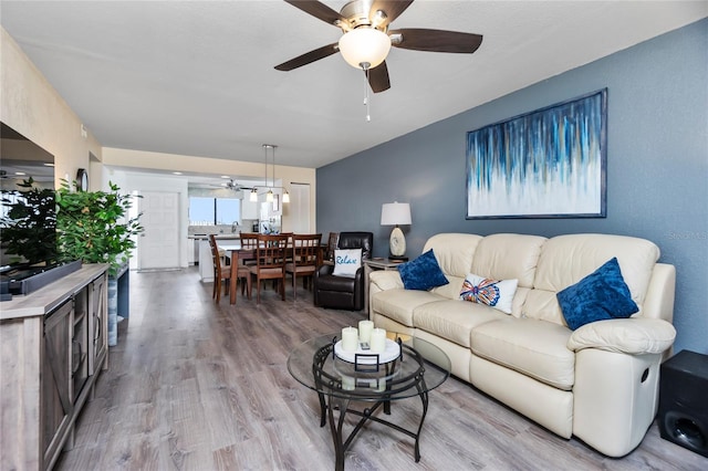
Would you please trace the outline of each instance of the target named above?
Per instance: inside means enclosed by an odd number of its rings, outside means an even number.
[[[321,394],[378,401],[419,396],[440,386],[450,374],[450,359],[429,342],[393,334],[389,338],[402,341],[402,356],[381,365],[366,360],[355,364],[333,354],[333,339],[339,335],[323,335],[298,345],[288,358],[293,378]]]

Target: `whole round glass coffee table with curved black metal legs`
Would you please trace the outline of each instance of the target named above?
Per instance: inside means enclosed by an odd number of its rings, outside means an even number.
[[[428,393],[448,378],[450,359],[429,342],[391,333],[386,352],[378,357],[362,350],[358,354],[344,353],[340,349],[341,344],[337,344],[339,335],[334,333],[312,338],[296,346],[288,358],[288,370],[293,378],[317,393],[320,427],[325,426],[327,417],[330,419],[336,456],[334,469],[344,470],[344,453],[368,420],[414,438],[414,457],[418,462],[418,439],[428,411]],[[378,410],[391,415],[393,401],[416,396],[423,402],[417,430],[407,430],[376,415]],[[363,402],[362,410],[353,408],[356,402]],[[339,410],[336,421],[334,410]],[[347,414],[361,419],[344,438],[344,418]]]

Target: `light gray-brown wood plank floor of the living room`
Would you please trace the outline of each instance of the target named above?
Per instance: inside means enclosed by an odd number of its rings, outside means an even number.
[[[362,313],[321,310],[267,290],[260,305],[211,300],[196,269],[132,273],[131,317],[58,470],[331,470],[329,426],[316,395],[285,362],[309,337],[356,325]],[[417,399],[394,405],[408,427]],[[408,437],[377,423],[357,436],[346,470],[706,470],[708,459],[659,437],[603,457],[565,440],[456,378],[430,394],[415,463]]]

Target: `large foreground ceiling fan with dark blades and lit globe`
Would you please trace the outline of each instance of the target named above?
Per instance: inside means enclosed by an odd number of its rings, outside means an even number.
[[[352,66],[366,73],[374,93],[391,88],[386,55],[391,46],[429,52],[471,54],[482,36],[456,31],[405,28],[389,30],[388,25],[413,3],[413,0],[354,0],[339,13],[316,0],[285,0],[293,7],[344,33],[339,42],[306,52],[277,65],[279,71],[292,71],[320,59],[341,52]]]

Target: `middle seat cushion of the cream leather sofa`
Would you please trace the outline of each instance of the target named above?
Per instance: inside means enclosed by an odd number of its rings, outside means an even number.
[[[420,305],[414,310],[416,328],[469,348],[472,328],[506,317],[506,314],[485,304],[445,300]]]

